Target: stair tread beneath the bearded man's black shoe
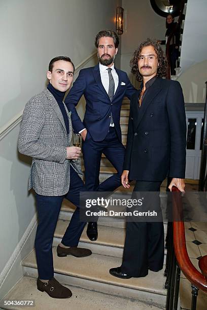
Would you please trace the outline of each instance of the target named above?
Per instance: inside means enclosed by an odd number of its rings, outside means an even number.
[[[62,238],[68,224],[69,221],[59,219],[57,221],[54,237]],[[98,225],[98,238],[96,241],[90,241],[88,239],[86,235],[86,229],[87,225],[85,226],[81,235],[80,241],[82,242],[101,244],[118,248],[124,247],[125,229],[123,228]]]

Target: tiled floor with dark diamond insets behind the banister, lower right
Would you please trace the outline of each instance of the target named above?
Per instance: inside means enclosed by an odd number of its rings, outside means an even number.
[[[196,184],[187,184],[186,190],[198,190]],[[186,222],[185,235],[188,255],[195,268],[200,272],[198,260],[201,256],[207,255],[207,223]],[[191,308],[191,284],[181,272],[180,297],[182,309]],[[197,310],[207,309],[207,294],[198,291]]]

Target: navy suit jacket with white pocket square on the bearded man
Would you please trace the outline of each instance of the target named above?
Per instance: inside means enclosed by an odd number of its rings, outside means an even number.
[[[77,80],[64,101],[68,110],[72,111],[71,119],[75,132],[86,128],[94,141],[104,140],[109,131],[112,112],[117,135],[121,141],[120,110],[122,100],[124,96],[130,99],[135,89],[131,85],[126,72],[117,68],[116,72],[119,77],[119,84],[111,102],[101,83],[99,64],[95,67],[80,70]],[[83,122],[76,110],[76,105],[82,95],[86,100]]]

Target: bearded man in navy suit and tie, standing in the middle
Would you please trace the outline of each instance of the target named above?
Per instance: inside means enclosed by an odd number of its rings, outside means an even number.
[[[123,97],[129,99],[135,89],[126,72],[114,67],[119,37],[116,32],[103,30],[95,38],[99,64],[82,69],[65,99],[72,111],[72,123],[83,139],[85,185],[88,191],[113,191],[121,185],[125,148],[121,142],[120,110]],[[81,121],[76,105],[81,96],[86,99],[86,111]],[[116,168],[117,173],[99,184],[101,154]],[[87,235],[97,239],[97,223],[89,222]]]

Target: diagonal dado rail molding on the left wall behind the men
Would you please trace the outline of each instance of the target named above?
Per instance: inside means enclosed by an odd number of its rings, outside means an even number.
[[[74,74],[78,73],[90,60],[92,60],[97,55],[97,52],[93,52],[87,58],[85,58],[81,63],[79,63],[74,71]],[[18,124],[21,123],[23,110],[16,114],[5,126],[0,128],[0,141],[4,139]],[[1,281],[0,281],[1,283]],[[1,284],[0,284],[1,286]]]

